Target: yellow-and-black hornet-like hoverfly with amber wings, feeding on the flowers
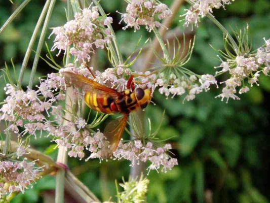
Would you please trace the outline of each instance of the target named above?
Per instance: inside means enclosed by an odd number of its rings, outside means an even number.
[[[122,138],[130,112],[144,109],[150,103],[152,92],[150,89],[135,88],[133,76],[127,82],[127,89],[118,92],[82,75],[64,71],[61,73],[68,84],[74,85],[85,92],[85,103],[91,109],[105,114],[121,113],[120,119],[109,122],[104,129],[104,136],[110,143],[111,155],[117,149]]]

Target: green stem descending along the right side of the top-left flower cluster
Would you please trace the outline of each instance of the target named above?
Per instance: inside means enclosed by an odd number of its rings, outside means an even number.
[[[92,2],[94,2],[94,4],[98,7],[98,10],[99,10],[100,14],[105,16],[106,13],[104,12],[104,10],[101,7],[101,5],[99,4],[99,2],[97,2],[96,0],[92,0]],[[122,54],[121,54],[120,49],[119,49],[118,42],[116,40],[115,32],[114,32],[114,30],[113,30],[113,28],[112,28],[112,26],[110,24],[108,25],[108,28],[110,29],[111,35],[113,36],[112,41],[113,41],[113,44],[114,44],[114,47],[109,45],[110,51],[111,51],[112,55],[113,54],[115,55],[115,52],[117,53],[118,59],[117,60],[114,59],[114,60],[117,61],[119,65],[121,65],[121,64],[123,64],[123,58],[122,58]]]

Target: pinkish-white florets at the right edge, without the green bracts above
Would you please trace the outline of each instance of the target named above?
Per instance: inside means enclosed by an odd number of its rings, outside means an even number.
[[[217,67],[221,67],[222,70],[216,72],[229,73],[229,79],[224,82],[225,87],[222,89],[222,93],[217,97],[221,97],[221,100],[226,98],[226,103],[229,98],[240,99],[237,93],[237,87],[239,89],[239,94],[246,93],[249,91],[249,87],[245,85],[244,81],[247,82],[252,87],[254,84],[258,85],[258,78],[262,72],[264,75],[268,75],[270,71],[270,39],[265,40],[265,45],[257,49],[256,54],[249,55],[238,55],[233,59],[227,59],[222,61]],[[216,68],[217,68],[216,67]]]

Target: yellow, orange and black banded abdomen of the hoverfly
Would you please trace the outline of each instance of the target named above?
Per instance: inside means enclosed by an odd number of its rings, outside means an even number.
[[[85,94],[85,103],[93,110],[102,112],[105,114],[114,113],[110,109],[110,104],[114,102],[114,98],[106,97],[98,93],[86,93]]]

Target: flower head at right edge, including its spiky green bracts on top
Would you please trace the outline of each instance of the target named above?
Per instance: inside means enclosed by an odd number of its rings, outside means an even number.
[[[228,39],[224,38],[225,52],[220,52],[223,59],[221,64],[215,68],[221,68],[216,72],[216,76],[228,73],[229,78],[226,81],[220,82],[224,84],[222,93],[216,97],[221,97],[221,100],[226,98],[226,103],[229,98],[240,99],[236,93],[246,93],[249,91],[249,86],[258,84],[258,78],[261,74],[268,76],[270,70],[270,39],[264,40],[265,44],[259,47],[256,51],[251,52],[248,39],[248,27],[244,31],[236,33],[238,39],[238,50],[233,53],[233,46]]]

